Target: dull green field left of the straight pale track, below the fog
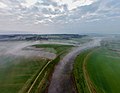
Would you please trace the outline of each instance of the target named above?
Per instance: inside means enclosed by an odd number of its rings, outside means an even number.
[[[17,93],[47,61],[40,58],[0,57],[0,93]]]

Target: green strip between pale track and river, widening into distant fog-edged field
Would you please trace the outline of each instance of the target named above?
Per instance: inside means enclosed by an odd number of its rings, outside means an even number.
[[[53,48],[56,51],[57,57],[50,61],[38,75],[36,83],[33,85],[28,93],[44,93],[47,86],[50,84],[50,76],[54,70],[55,65],[60,61],[60,58],[68,52],[73,46],[59,45],[59,44],[42,44],[35,45],[36,48]]]

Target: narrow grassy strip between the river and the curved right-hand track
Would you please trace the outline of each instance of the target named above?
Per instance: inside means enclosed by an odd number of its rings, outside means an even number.
[[[75,77],[75,83],[78,93],[89,93],[83,72],[84,58],[87,56],[89,52],[90,51],[84,51],[80,53],[75,59],[73,74]]]

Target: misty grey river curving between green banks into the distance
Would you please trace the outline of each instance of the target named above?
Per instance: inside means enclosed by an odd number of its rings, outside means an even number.
[[[48,93],[76,93],[71,76],[74,59],[81,51],[99,45],[100,40],[93,40],[73,48],[55,67]]]

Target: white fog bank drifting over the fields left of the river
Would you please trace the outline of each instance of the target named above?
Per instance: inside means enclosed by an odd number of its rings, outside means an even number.
[[[35,41],[2,41],[0,42],[0,56],[13,56],[13,57],[44,57],[53,59],[55,58],[54,53],[50,53],[43,49],[28,48],[31,45],[38,44],[40,42]]]

